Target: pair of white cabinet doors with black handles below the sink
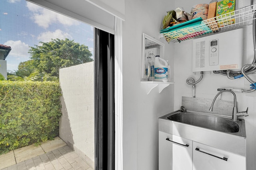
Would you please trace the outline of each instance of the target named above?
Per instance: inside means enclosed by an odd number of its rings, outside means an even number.
[[[246,157],[159,131],[159,170],[246,170]]]

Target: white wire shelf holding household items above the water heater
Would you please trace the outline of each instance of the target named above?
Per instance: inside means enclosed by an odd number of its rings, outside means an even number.
[[[233,12],[216,16],[208,20],[201,21],[200,25],[189,26],[175,31],[163,33],[167,42],[181,42],[188,39],[208,36],[215,33],[230,31],[251,25],[254,13],[256,13],[256,4],[246,6]]]

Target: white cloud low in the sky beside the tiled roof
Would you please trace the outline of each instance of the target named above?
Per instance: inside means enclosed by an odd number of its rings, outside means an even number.
[[[16,57],[17,60],[30,58],[30,55],[28,54],[28,50],[30,49],[28,44],[23,43],[20,40],[19,41],[9,40],[9,41],[6,41],[4,45],[8,45],[12,48],[9,55],[12,57]]]

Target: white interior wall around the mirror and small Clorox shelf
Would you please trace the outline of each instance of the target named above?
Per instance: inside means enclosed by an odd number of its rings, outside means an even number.
[[[158,39],[162,19],[172,0],[126,0],[123,22],[123,169],[158,169],[158,117],[173,111],[173,84],[158,94],[146,94],[141,84],[142,33]],[[174,46],[166,45],[165,59],[174,65]]]

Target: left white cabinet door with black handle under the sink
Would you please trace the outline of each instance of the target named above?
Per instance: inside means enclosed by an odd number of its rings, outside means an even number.
[[[192,170],[192,141],[159,131],[159,170]]]

